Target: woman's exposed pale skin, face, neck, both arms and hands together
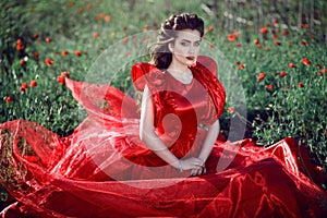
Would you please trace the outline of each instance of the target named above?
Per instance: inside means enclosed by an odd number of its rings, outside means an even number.
[[[199,43],[201,35],[198,31],[183,29],[178,33],[175,40],[169,45],[169,49],[172,52],[172,61],[167,71],[181,83],[189,84],[193,80],[189,66],[196,61],[199,51]],[[140,137],[148,148],[172,167],[190,170],[191,175],[206,173],[204,164],[219,134],[219,121],[217,120],[209,126],[204,145],[197,157],[179,160],[169,149],[167,149],[167,146],[155,132],[154,104],[147,86],[144,88],[141,107]]]

